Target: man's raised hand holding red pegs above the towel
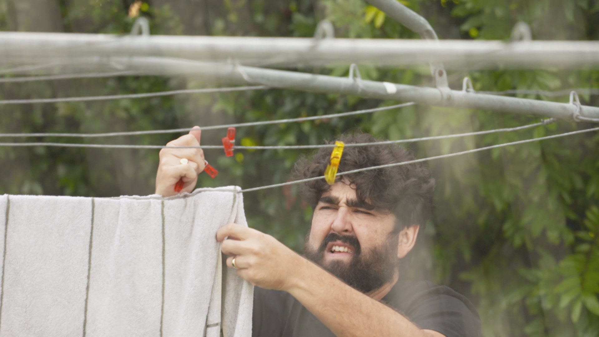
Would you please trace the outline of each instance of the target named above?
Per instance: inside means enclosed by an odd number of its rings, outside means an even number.
[[[199,146],[202,131],[193,127],[189,134],[167,143],[167,146]],[[163,197],[176,195],[175,184],[183,179],[181,192],[191,192],[198,181],[198,174],[204,170],[205,160],[202,149],[169,149],[163,148],[159,154],[158,172],[156,173],[156,194]],[[181,159],[187,164],[181,164]]]

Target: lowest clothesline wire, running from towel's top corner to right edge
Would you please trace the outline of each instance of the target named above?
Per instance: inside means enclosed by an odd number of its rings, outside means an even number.
[[[527,140],[519,140],[518,142],[510,142],[510,143],[503,143],[503,144],[492,145],[492,146],[485,146],[484,148],[478,148],[478,149],[472,149],[472,150],[467,150],[467,151],[455,152],[453,154],[438,155],[438,156],[434,156],[434,157],[421,158],[421,159],[411,160],[411,161],[404,161],[403,163],[393,163],[393,164],[386,164],[386,165],[380,165],[380,166],[366,167],[364,169],[358,169],[358,170],[351,170],[351,171],[346,171],[346,172],[340,172],[340,173],[337,173],[335,176],[339,177],[339,176],[343,176],[345,174],[358,173],[358,172],[368,171],[368,170],[384,169],[385,167],[403,166],[403,165],[408,165],[408,164],[421,163],[423,161],[430,161],[430,160],[435,160],[435,159],[456,157],[456,156],[459,156],[459,155],[472,154],[474,152],[480,152],[480,151],[485,151],[485,150],[490,150],[490,149],[502,148],[504,146],[509,146],[509,145],[519,145],[519,144],[530,143],[530,142],[539,142],[540,140],[546,140],[546,139],[553,139],[553,138],[558,138],[558,137],[570,136],[570,135],[573,135],[573,134],[588,133],[588,132],[591,132],[591,131],[599,131],[599,128],[577,130],[577,131],[571,131],[569,133],[555,134],[555,135],[552,135],[552,136],[545,136],[545,137],[539,137],[539,138],[527,139]],[[300,180],[294,180],[294,181],[291,181],[291,182],[276,183],[274,185],[267,185],[267,186],[261,186],[261,187],[255,187],[255,188],[241,189],[240,192],[252,192],[252,191],[258,191],[260,189],[267,189],[267,188],[274,188],[274,187],[280,187],[280,186],[294,185],[296,183],[308,182],[308,181],[318,180],[318,179],[324,179],[324,178],[325,178],[324,176],[319,176],[319,177],[313,177],[313,178],[308,178],[308,179],[300,179]]]

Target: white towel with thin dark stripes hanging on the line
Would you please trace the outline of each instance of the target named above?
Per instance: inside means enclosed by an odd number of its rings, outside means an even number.
[[[247,225],[239,191],[2,195],[0,337],[249,337],[253,287],[223,269],[215,240]]]

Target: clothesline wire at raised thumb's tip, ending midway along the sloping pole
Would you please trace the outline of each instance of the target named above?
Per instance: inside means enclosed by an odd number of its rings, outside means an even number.
[[[241,88],[241,87],[236,87],[236,88]],[[335,117],[342,117],[342,116],[359,115],[362,113],[379,112],[379,111],[383,111],[383,110],[399,109],[402,107],[413,106],[415,104],[416,103],[414,103],[414,102],[408,102],[408,103],[402,103],[402,104],[395,104],[393,106],[377,107],[377,108],[372,108],[372,109],[362,109],[362,110],[356,110],[356,111],[351,111],[351,112],[332,113],[330,115],[276,119],[273,121],[259,121],[259,122],[225,124],[225,125],[211,125],[208,127],[202,127],[201,130],[219,130],[219,129],[226,129],[226,128],[230,128],[230,127],[254,127],[254,126],[258,126],[258,125],[314,121],[316,119],[335,118]],[[89,137],[140,136],[143,134],[181,133],[181,132],[188,132],[190,130],[192,130],[192,128],[179,128],[179,129],[168,129],[168,130],[146,130],[146,131],[125,131],[125,132],[115,132],[115,133],[0,133],[0,137],[81,137],[81,138],[89,138]],[[222,148],[222,146],[220,146],[220,148]]]

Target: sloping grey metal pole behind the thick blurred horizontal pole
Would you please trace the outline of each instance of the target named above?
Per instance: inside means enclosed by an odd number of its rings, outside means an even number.
[[[117,62],[113,59],[113,62]],[[252,83],[272,88],[356,95],[380,100],[413,101],[430,106],[450,106],[493,112],[519,113],[572,121],[577,106],[568,103],[528,100],[525,98],[477,94],[362,80],[359,77],[335,77],[294,71],[244,67],[233,64],[213,64],[164,58],[126,58],[123,67],[136,73],[168,76],[201,76],[215,82]],[[582,106],[580,116],[599,118],[599,108]]]

